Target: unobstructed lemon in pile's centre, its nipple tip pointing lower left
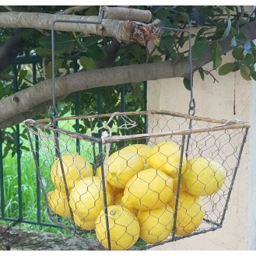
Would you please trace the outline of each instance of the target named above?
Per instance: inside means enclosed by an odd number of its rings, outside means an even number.
[[[149,168],[136,174],[124,188],[124,207],[149,210],[162,207],[173,194],[173,179]]]

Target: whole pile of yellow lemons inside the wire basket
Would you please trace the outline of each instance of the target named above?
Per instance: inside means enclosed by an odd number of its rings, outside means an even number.
[[[79,154],[63,155],[51,167],[55,189],[47,195],[49,205],[59,216],[72,217],[83,230],[95,230],[103,247],[110,245],[111,250],[127,250],[139,237],[147,244],[157,243],[173,230],[177,236],[187,235],[205,216],[200,198],[219,191],[226,175],[214,160],[182,159],[181,164],[175,142],[135,144],[111,154],[93,175],[88,160]]]

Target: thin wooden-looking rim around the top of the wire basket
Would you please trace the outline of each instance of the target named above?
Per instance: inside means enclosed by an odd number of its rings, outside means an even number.
[[[179,112],[174,112],[170,110],[146,110],[146,111],[132,111],[132,112],[116,112],[114,116],[135,116],[135,115],[146,115],[146,114],[165,114],[174,117],[183,117],[185,119],[189,119],[191,121],[205,121],[208,123],[219,124],[216,126],[208,127],[208,128],[188,128],[182,130],[175,130],[175,131],[168,131],[168,132],[153,132],[153,133],[144,133],[144,134],[136,134],[136,135],[111,135],[107,137],[96,138],[93,135],[85,135],[79,132],[71,132],[65,130],[63,128],[54,128],[51,125],[50,118],[39,119],[37,121],[27,119],[23,121],[26,128],[30,129],[31,127],[36,128],[43,128],[48,131],[52,132],[59,132],[64,135],[68,135],[75,139],[84,139],[91,142],[98,142],[102,144],[107,144],[110,142],[121,142],[129,139],[147,139],[152,137],[162,137],[162,136],[172,136],[172,135],[191,135],[195,133],[202,133],[202,132],[216,132],[216,131],[223,131],[223,130],[230,130],[230,129],[239,129],[239,128],[250,128],[251,123],[240,121],[237,118],[233,118],[230,120],[226,119],[214,119],[210,117],[199,117],[193,116],[190,114],[182,114]],[[111,114],[88,114],[88,115],[80,115],[80,116],[71,116],[71,117],[57,117],[56,121],[68,121],[68,120],[78,120],[78,119],[89,119],[89,118],[100,118],[100,117],[111,117]],[[50,123],[50,124],[46,124]]]

